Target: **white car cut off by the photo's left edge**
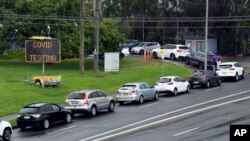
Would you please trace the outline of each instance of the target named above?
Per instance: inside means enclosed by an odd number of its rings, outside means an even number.
[[[12,135],[12,127],[8,121],[0,120],[0,137],[3,141],[9,141]]]

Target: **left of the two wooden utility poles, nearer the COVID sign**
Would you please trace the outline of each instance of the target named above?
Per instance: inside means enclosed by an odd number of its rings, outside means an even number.
[[[83,20],[83,11],[84,11],[85,0],[81,0],[80,6],[80,73],[84,73],[84,20]]]

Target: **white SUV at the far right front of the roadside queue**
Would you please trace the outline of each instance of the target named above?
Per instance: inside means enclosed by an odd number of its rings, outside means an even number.
[[[240,78],[244,79],[244,68],[237,62],[224,62],[219,64],[216,73],[220,78],[234,78],[238,81]]]

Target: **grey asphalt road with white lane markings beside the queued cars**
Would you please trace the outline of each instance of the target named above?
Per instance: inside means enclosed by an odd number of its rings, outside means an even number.
[[[162,95],[142,105],[116,105],[114,113],[79,115],[48,130],[15,129],[12,141],[228,141],[230,124],[250,123],[250,75],[220,87]]]

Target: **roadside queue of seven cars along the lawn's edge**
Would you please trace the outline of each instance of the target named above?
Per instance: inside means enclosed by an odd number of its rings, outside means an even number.
[[[221,85],[222,79],[231,77],[235,81],[244,79],[244,68],[237,62],[224,62],[216,72],[211,70],[195,70],[188,79],[179,76],[164,76],[152,86],[146,82],[126,83],[118,89],[116,98],[120,105],[126,102],[144,103],[145,100],[158,100],[159,95],[190,93],[196,86],[211,87]],[[62,107],[53,103],[31,103],[24,106],[17,116],[17,127],[25,130],[27,127],[41,127],[48,129],[59,122],[70,123],[75,114],[87,113],[92,117],[101,110],[114,112],[115,100],[100,90],[81,90],[69,94]],[[11,125],[0,121],[0,137],[4,141],[10,140]]]

